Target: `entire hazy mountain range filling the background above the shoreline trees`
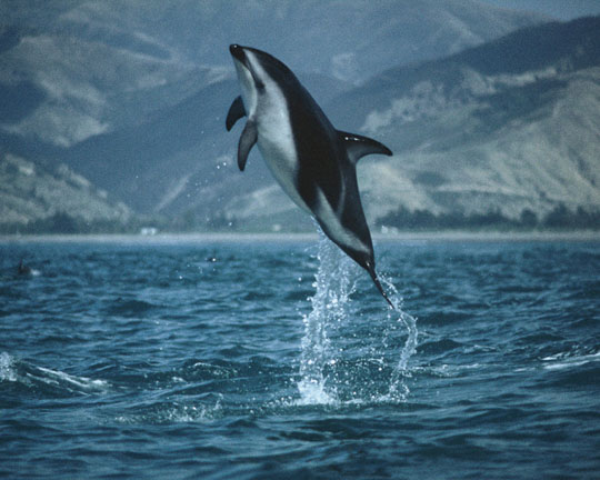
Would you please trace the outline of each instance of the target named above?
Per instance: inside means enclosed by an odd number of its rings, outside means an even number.
[[[231,42],[276,54],[338,128],[394,151],[359,166],[371,222],[600,204],[594,18],[548,22],[474,0],[7,1],[0,13],[2,163],[89,183],[71,182],[79,206],[46,209],[26,208],[31,188],[10,193],[20,202],[0,189],[3,222],[67,211],[311,228],[259,154],[237,171],[241,127],[223,124],[239,94]]]

